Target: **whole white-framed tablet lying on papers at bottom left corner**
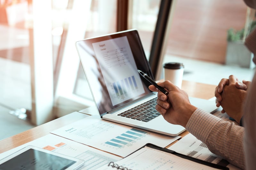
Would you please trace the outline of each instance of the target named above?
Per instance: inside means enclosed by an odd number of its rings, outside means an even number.
[[[28,145],[10,156],[1,159],[0,169],[71,170],[83,164],[84,160]]]

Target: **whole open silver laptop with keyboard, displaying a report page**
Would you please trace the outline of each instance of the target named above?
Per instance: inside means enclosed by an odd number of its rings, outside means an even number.
[[[137,30],[83,39],[76,42],[76,49],[102,119],[169,136],[185,131],[155,110],[157,93],[137,71],[154,79]],[[190,102],[208,112],[216,109],[212,101]]]

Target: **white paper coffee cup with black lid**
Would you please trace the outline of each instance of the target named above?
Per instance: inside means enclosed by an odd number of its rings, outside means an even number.
[[[182,63],[165,63],[164,64],[164,80],[171,81],[174,85],[181,88],[184,65]]]

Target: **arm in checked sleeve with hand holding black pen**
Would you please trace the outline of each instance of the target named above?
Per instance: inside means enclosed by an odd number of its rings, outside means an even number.
[[[244,168],[243,127],[225,122],[210,113],[197,109],[189,102],[187,93],[170,81],[164,81],[158,85],[167,89],[169,95],[164,95],[153,85],[150,85],[149,89],[158,92],[156,110],[163,115],[166,121],[182,125],[204,142],[213,153]]]

